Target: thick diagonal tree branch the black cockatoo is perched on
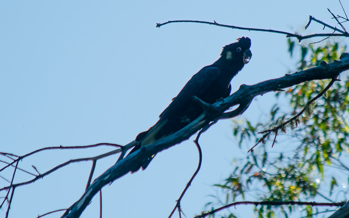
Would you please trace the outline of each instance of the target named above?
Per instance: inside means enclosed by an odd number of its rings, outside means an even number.
[[[216,111],[229,110],[230,107],[239,104],[243,105],[242,108],[239,106],[235,111],[223,114],[209,114],[205,112],[178,132],[153,144],[142,146],[139,150],[117,161],[114,166],[110,167],[101,176],[95,179],[94,182],[92,182],[86,192],[67,210],[62,218],[80,217],[81,213],[91,201],[92,197],[97,194],[97,192],[103,186],[113,182],[121,176],[124,176],[130,171],[138,170],[142,164],[142,161],[154,153],[158,153],[162,150],[170,148],[171,146],[188,140],[190,136],[195,134],[198,130],[205,128],[210,121],[228,119],[242,114],[255,96],[291,87],[305,81],[335,78],[340,73],[348,69],[349,54],[343,53],[341,55],[341,61],[335,61],[334,63],[329,63],[326,65],[319,65],[318,67],[296,72],[294,74],[286,74],[283,77],[267,80],[255,85],[241,85],[238,91],[225,98],[224,101],[216,102],[212,106],[217,108]],[[207,128],[205,128],[205,130],[207,130]]]

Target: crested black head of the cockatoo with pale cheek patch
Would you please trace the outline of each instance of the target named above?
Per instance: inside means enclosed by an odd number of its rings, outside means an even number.
[[[248,37],[241,37],[237,40],[238,42],[223,47],[223,51],[221,53],[222,58],[234,61],[242,60],[244,64],[246,64],[251,60],[252,57],[252,52],[250,50],[251,39]]]

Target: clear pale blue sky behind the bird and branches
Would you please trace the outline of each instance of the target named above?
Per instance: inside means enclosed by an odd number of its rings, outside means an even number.
[[[342,3],[349,10],[348,2]],[[198,23],[155,28],[156,23],[215,20],[302,35],[329,33],[316,23],[303,32],[309,15],[335,25],[327,8],[343,14],[339,2],[319,0],[2,1],[0,150],[24,155],[48,146],[127,144],[156,123],[193,74],[216,61],[224,45],[242,36],[251,38],[253,57],[233,79],[232,91],[241,84],[255,84],[295,70],[284,35]],[[273,93],[257,97],[242,119],[268,119],[274,102]],[[247,156],[253,146],[238,149],[231,129],[232,122],[224,120],[201,136],[201,171],[181,202],[187,217],[199,214],[213,201],[209,195],[217,193],[212,185],[230,174],[233,158]],[[104,187],[104,217],[168,217],[197,167],[193,140],[161,152],[147,170]],[[43,173],[67,160],[110,150],[45,151],[24,159],[19,166],[34,173],[34,165]],[[116,160],[117,156],[99,160],[93,179]],[[36,217],[68,208],[82,195],[90,167],[91,162],[70,164],[18,187],[9,217]],[[2,175],[10,179],[11,171]],[[30,175],[18,173],[15,182],[29,179]],[[0,180],[0,186],[6,185]],[[98,205],[96,197],[81,217],[98,216]],[[253,216],[253,206],[237,208],[240,216]],[[0,216],[4,214],[0,211]]]

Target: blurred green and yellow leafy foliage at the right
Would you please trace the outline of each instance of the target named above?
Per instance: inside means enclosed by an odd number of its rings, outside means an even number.
[[[289,52],[294,56],[294,48],[297,47],[289,39]],[[319,47],[314,45],[298,46],[300,61],[298,70],[305,70],[318,66],[321,61],[327,63],[338,60],[346,47],[338,43],[327,43]],[[317,102],[306,106],[312,98],[317,96],[329,83],[324,81],[309,81],[289,88],[285,92],[279,92],[276,96],[285,95],[290,99],[291,113],[282,113],[276,104],[270,112],[269,122],[260,122],[253,125],[252,122],[235,122],[233,135],[239,140],[239,146],[243,141],[256,142],[261,137],[259,131],[273,128],[292,118],[306,107],[303,115],[295,122],[282,129],[282,134],[287,133],[294,141],[294,149],[285,156],[275,151],[270,155],[265,139],[262,145],[257,147],[258,153],[252,153],[244,160],[235,160],[237,165],[223,185],[215,185],[222,188],[226,195],[226,204],[236,201],[237,197],[245,198],[245,193],[254,191],[257,200],[262,201],[301,201],[312,200],[321,197],[329,201],[335,187],[338,186],[336,176],[326,172],[326,167],[336,167],[343,173],[348,173],[340,159],[343,151],[349,151],[349,77],[340,75],[342,81],[335,82],[331,89]],[[283,136],[285,137],[285,136]],[[274,136],[266,138],[267,142],[274,140]],[[252,144],[252,143],[251,143]],[[251,146],[252,147],[252,146]],[[347,152],[344,152],[346,154]],[[327,175],[330,173],[329,175]],[[325,175],[326,174],[326,175]],[[328,196],[319,193],[325,187],[320,186],[320,179],[313,179],[314,175],[320,175],[321,179],[330,177]],[[255,190],[253,187],[264,187]],[[343,186],[344,187],[344,186]],[[316,209],[317,210],[317,209]],[[274,217],[275,213],[282,213],[288,217],[294,211],[292,206],[256,207],[258,217]],[[304,208],[306,217],[312,217],[321,212],[313,211],[310,206]],[[228,215],[230,216],[230,215]]]

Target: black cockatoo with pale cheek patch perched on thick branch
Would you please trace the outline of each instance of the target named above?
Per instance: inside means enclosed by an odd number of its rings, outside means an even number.
[[[135,141],[138,144],[130,153],[138,150],[141,146],[154,143],[177,132],[198,118],[203,113],[203,109],[193,101],[193,96],[209,104],[228,97],[231,91],[230,81],[252,57],[250,47],[251,39],[245,37],[239,38],[236,43],[224,46],[221,57],[212,65],[206,66],[196,73],[160,114],[159,121],[148,131],[142,132],[136,137]],[[154,155],[142,163],[143,170]]]

